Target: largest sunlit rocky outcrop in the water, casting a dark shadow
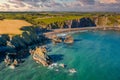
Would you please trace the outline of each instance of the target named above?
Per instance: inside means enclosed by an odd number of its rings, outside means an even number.
[[[34,50],[30,50],[32,58],[36,61],[36,63],[42,64],[43,66],[48,66],[52,63],[46,52],[45,47],[36,47]]]

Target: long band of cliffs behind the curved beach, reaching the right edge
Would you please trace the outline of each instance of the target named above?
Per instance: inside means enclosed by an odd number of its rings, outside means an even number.
[[[120,25],[118,18],[114,16],[92,16],[83,17],[79,19],[72,19],[66,21],[58,21],[51,23],[47,26],[48,29],[59,29],[59,28],[82,28],[82,27],[117,27]]]

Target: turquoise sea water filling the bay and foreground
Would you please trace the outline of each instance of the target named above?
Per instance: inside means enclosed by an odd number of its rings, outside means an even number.
[[[31,56],[14,70],[0,64],[0,80],[120,80],[120,32],[97,31],[73,34],[72,45],[48,46],[48,54],[66,68],[48,69],[36,64]],[[70,74],[74,68],[77,73]]]

